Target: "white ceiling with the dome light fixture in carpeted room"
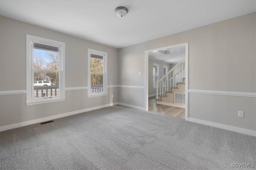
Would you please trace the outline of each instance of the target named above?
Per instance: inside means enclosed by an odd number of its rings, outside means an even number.
[[[129,12],[118,18],[115,8]],[[122,48],[256,11],[255,0],[1,0],[0,15]]]

